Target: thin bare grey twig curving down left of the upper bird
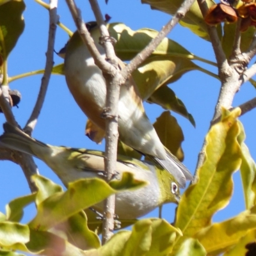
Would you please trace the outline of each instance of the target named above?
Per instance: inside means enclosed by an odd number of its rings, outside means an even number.
[[[56,35],[56,24],[58,22],[57,15],[57,5],[58,0],[51,0],[49,4],[49,38],[48,38],[48,46],[46,52],[46,63],[45,63],[45,72],[42,77],[42,82],[40,86],[40,92],[38,93],[38,98],[36,100],[35,107],[29,117],[27,124],[25,125],[24,130],[31,134],[33,129],[35,128],[38,116],[44,104],[45,95],[47,92],[48,84],[51,77],[52,67],[54,64],[53,56],[54,56],[54,42]]]

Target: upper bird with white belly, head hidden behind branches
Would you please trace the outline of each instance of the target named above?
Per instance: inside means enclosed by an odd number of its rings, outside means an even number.
[[[100,54],[106,58],[104,49],[99,43],[100,31],[97,23],[88,22],[86,27]],[[106,107],[106,80],[100,68],[95,65],[78,31],[72,35],[60,52],[65,56],[65,79],[74,100],[93,124],[105,130],[106,122],[102,118],[102,113]],[[118,66],[120,69],[124,68],[124,63],[120,59]],[[172,173],[180,188],[186,187],[186,180],[193,180],[193,175],[186,166],[161,143],[156,130],[148,120],[132,76],[120,88],[118,132],[120,141],[141,154],[150,156]]]

